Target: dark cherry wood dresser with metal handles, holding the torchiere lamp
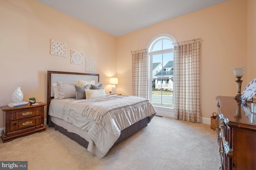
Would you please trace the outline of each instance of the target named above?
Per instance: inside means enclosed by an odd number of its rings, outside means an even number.
[[[256,113],[251,104],[217,96],[218,144],[222,170],[256,169]]]

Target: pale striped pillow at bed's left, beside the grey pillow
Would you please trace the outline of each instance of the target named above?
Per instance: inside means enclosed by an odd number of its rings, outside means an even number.
[[[66,98],[76,98],[76,84],[66,84],[63,82],[57,82],[58,86],[58,98],[66,99]]]

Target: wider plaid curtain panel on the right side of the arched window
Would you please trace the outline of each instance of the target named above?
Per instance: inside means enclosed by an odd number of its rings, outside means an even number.
[[[200,41],[174,45],[175,119],[201,123],[199,57]]]

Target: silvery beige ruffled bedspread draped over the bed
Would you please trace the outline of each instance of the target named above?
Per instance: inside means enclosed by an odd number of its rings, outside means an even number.
[[[156,113],[144,98],[118,95],[92,100],[70,99],[64,105],[63,115],[54,115],[54,109],[50,109],[53,110],[49,113],[51,116],[88,131],[87,150],[98,158],[108,153],[123,129]]]

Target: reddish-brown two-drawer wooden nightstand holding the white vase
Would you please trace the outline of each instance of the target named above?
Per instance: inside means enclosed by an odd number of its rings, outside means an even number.
[[[36,102],[39,105],[9,107],[1,106],[5,112],[5,133],[2,131],[3,142],[12,141],[15,137],[28,135],[37,131],[45,131],[44,106],[45,103]]]

